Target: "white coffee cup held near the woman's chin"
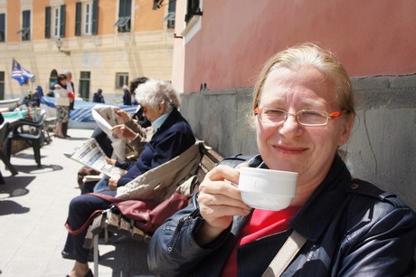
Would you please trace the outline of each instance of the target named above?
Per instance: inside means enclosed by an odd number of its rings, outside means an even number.
[[[279,211],[296,196],[297,172],[240,167],[242,201],[253,208]]]

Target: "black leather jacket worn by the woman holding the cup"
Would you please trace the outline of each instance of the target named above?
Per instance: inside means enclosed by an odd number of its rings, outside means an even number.
[[[251,167],[264,167],[260,156]],[[200,247],[194,233],[203,224],[196,201],[176,213],[153,235],[149,268],[161,276],[221,276],[248,216],[212,244]],[[322,184],[291,222],[307,243],[282,276],[403,276],[413,268],[416,215],[392,194],[352,180],[336,156]],[[261,276],[292,230],[238,249],[238,275]]]

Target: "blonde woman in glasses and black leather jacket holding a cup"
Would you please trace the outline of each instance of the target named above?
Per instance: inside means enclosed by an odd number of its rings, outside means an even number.
[[[295,196],[279,211],[251,209],[241,197],[239,170],[215,167],[192,205],[153,235],[150,270],[261,276],[296,232],[305,244],[282,276],[409,274],[415,213],[396,196],[353,179],[337,154],[353,128],[355,105],[336,57],[310,43],[274,55],[254,86],[252,110],[260,155],[244,166],[298,173]]]

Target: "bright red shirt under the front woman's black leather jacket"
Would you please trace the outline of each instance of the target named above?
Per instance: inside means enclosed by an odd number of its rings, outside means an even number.
[[[288,230],[289,220],[298,212],[299,207],[288,207],[280,211],[255,209],[249,222],[242,229],[240,238],[232,250],[227,263],[222,270],[222,277],[237,276],[237,249],[270,234]]]

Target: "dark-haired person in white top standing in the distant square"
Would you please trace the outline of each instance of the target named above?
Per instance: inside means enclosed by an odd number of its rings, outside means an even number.
[[[68,97],[67,82],[67,77],[64,74],[60,74],[57,82],[53,85],[57,117],[54,136],[60,139],[66,139],[62,131],[62,123],[68,122],[70,115],[70,98]]]

